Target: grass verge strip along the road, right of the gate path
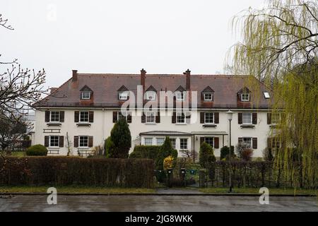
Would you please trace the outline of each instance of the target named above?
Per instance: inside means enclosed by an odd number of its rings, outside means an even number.
[[[204,193],[210,193],[210,194],[227,194],[228,188],[204,188],[199,189],[199,191]],[[233,194],[259,194],[259,189],[257,188],[233,188],[232,189]],[[300,195],[300,194],[306,194],[306,195],[314,195],[318,196],[318,190],[313,189],[276,189],[276,188],[270,188],[269,189],[269,195],[273,194],[288,194],[288,195]]]

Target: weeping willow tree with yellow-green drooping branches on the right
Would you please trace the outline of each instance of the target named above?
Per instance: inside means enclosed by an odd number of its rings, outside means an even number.
[[[230,51],[234,73],[273,91],[270,111],[281,122],[270,136],[282,142],[275,166],[293,186],[317,188],[317,1],[269,0],[235,16],[232,28],[242,35]]]

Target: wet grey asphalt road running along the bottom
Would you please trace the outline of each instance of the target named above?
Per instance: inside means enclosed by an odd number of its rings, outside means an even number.
[[[270,197],[260,205],[259,196],[57,196],[57,205],[48,205],[47,196],[2,196],[0,211],[314,211],[317,197]]]

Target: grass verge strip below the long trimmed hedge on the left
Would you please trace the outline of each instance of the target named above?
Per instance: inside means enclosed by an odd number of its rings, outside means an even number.
[[[49,186],[0,186],[0,193],[47,193]],[[155,189],[107,188],[101,186],[57,186],[58,193],[145,194]]]

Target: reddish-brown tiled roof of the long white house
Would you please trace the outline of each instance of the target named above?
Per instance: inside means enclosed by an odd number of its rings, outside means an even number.
[[[260,88],[252,92],[252,100],[258,99],[258,108],[268,108],[269,100],[264,98],[263,92],[271,90],[259,83]],[[139,74],[90,74],[78,73],[78,79],[73,82],[70,78],[54,93],[35,104],[35,107],[81,107],[81,88],[87,85],[93,90],[93,100],[86,101],[91,107],[120,107],[118,100],[119,88],[124,85],[128,90],[136,93],[137,85],[141,85]],[[151,85],[160,91],[170,90],[175,92],[181,85],[186,88],[186,76],[177,74],[146,74],[147,90]],[[207,87],[214,90],[213,104],[206,105],[201,101],[201,92]],[[241,108],[237,101],[237,92],[244,87],[253,90],[249,85],[248,76],[223,76],[223,75],[191,75],[191,90],[198,92],[198,107],[213,108]],[[258,95],[258,96],[257,96]],[[257,98],[255,98],[257,97]],[[254,103],[256,104],[256,103]],[[245,105],[246,107],[247,105]],[[250,105],[247,106],[249,108]]]

